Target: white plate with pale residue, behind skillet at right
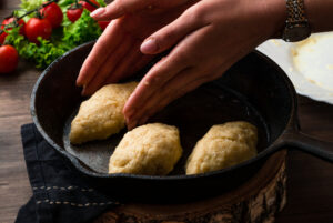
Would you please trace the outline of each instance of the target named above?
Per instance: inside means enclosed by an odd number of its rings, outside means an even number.
[[[297,93],[333,104],[333,32],[297,43],[269,40],[256,49],[285,71]]]

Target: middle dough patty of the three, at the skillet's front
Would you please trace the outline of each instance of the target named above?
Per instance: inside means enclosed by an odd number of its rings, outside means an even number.
[[[110,158],[109,173],[165,175],[182,154],[179,130],[145,124],[124,134]]]

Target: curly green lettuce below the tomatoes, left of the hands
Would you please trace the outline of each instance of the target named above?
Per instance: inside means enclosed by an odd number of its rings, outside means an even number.
[[[39,38],[39,44],[29,42],[19,33],[19,28],[8,31],[6,42],[12,44],[20,57],[32,61],[37,68],[44,69],[68,50],[100,37],[102,30],[89,13],[84,9],[74,23],[54,29],[50,40]]]

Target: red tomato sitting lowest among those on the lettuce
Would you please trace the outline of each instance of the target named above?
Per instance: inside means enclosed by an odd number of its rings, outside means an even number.
[[[37,38],[49,39],[52,34],[52,24],[47,19],[31,18],[26,24],[26,36],[30,42],[39,43]]]

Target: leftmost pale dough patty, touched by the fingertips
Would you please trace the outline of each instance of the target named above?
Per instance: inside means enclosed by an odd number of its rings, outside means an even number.
[[[71,143],[104,140],[123,129],[122,109],[137,85],[137,82],[108,84],[82,102],[71,123]]]

